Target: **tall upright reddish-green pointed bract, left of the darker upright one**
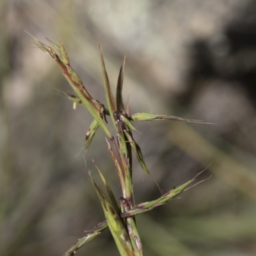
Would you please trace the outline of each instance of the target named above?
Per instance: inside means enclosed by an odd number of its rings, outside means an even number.
[[[111,87],[109,84],[108,74],[106,71],[104,58],[102,55],[101,45],[99,45],[99,48],[100,48],[100,61],[101,61],[101,69],[102,69],[102,76],[103,76],[103,81],[104,81],[104,90],[105,90],[105,94],[106,94],[106,100],[107,100],[111,120],[112,120],[113,124],[115,124],[115,120],[113,118],[113,113],[116,111],[116,104],[115,104],[115,100],[113,98],[113,93],[112,93],[112,90],[111,90]]]

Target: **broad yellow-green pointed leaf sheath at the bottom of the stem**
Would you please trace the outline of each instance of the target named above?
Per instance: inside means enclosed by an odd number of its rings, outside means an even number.
[[[111,205],[108,198],[106,198],[104,193],[101,191],[99,186],[97,186],[93,179],[92,183],[99,196],[99,200],[104,210],[106,221],[108,222],[108,227],[111,231],[113,238],[115,239],[115,243],[120,252],[120,255],[133,255],[131,241],[124,227],[124,222],[120,219],[118,212],[115,211],[115,208]]]

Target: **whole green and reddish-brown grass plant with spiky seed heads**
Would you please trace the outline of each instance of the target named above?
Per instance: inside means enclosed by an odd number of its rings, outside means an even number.
[[[80,77],[71,67],[68,54],[65,51],[65,47],[61,41],[60,45],[55,44],[51,40],[48,40],[49,45],[45,45],[36,39],[32,42],[38,48],[42,49],[42,51],[50,54],[52,59],[56,61],[63,76],[65,76],[75,93],[75,95],[69,93],[63,93],[63,95],[65,95],[69,100],[72,100],[75,105],[83,105],[93,116],[92,124],[86,132],[86,150],[89,150],[93,137],[99,128],[102,128],[106,133],[106,148],[108,148],[108,152],[113,159],[116,175],[118,175],[118,180],[122,189],[122,196],[120,196],[119,200],[116,200],[113,191],[108,184],[108,180],[106,177],[104,177],[104,172],[102,172],[93,161],[95,168],[99,172],[99,176],[102,179],[104,190],[106,192],[102,191],[100,186],[95,182],[95,180],[93,180],[91,174],[90,177],[99,197],[100,204],[102,205],[106,220],[98,223],[92,230],[88,230],[86,236],[79,239],[74,246],[65,252],[64,255],[74,255],[76,251],[81,248],[81,246],[99,236],[100,233],[106,228],[109,228],[120,255],[143,255],[143,247],[141,244],[140,235],[136,228],[135,215],[150,211],[159,205],[170,202],[172,198],[182,193],[182,191],[188,189],[189,184],[191,184],[196,177],[188,180],[188,182],[178,186],[177,188],[164,191],[163,195],[157,199],[150,202],[142,202],[136,205],[134,203],[132,186],[132,152],[134,152],[134,155],[136,156],[137,161],[140,163],[142,170],[147,173],[147,175],[150,175],[150,172],[148,171],[147,165],[143,158],[141,148],[138,143],[136,143],[132,135],[132,132],[136,131],[133,123],[137,121],[154,120],[175,120],[198,123],[205,122],[202,120],[184,119],[176,116],[154,115],[152,113],[135,113],[131,115],[129,111],[129,102],[127,102],[126,106],[124,106],[124,101],[122,98],[125,57],[118,76],[115,99],[111,86],[109,85],[108,73],[106,71],[102,54],[102,47],[99,45],[102,77],[107,103],[107,107],[105,107],[104,104],[99,102],[99,100],[93,99],[90,93],[86,90],[86,87],[84,87]],[[108,124],[107,116],[110,116],[111,125],[113,125],[115,128],[115,134],[111,134],[109,131],[108,127],[110,124]]]

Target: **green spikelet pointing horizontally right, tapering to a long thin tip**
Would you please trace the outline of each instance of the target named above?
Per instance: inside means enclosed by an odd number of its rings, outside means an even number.
[[[184,119],[177,116],[154,115],[152,113],[136,113],[131,116],[131,120],[134,120],[134,121],[174,120],[174,121],[183,121],[183,122],[191,122],[191,123],[199,123],[199,124],[214,124],[214,123],[207,123],[204,120]]]

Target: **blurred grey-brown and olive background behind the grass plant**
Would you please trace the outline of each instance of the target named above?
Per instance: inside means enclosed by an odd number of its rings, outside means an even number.
[[[140,122],[151,172],[134,159],[137,203],[204,170],[170,204],[136,218],[145,255],[256,255],[256,2],[253,0],[9,0],[0,3],[0,255],[62,255],[104,220],[88,171],[92,159],[121,196],[100,129],[51,57],[36,49],[59,39],[95,99],[104,100],[102,44],[115,89],[127,54],[124,99],[153,112],[218,125]],[[85,159],[85,161],[84,161]],[[102,234],[76,255],[118,255]]]

